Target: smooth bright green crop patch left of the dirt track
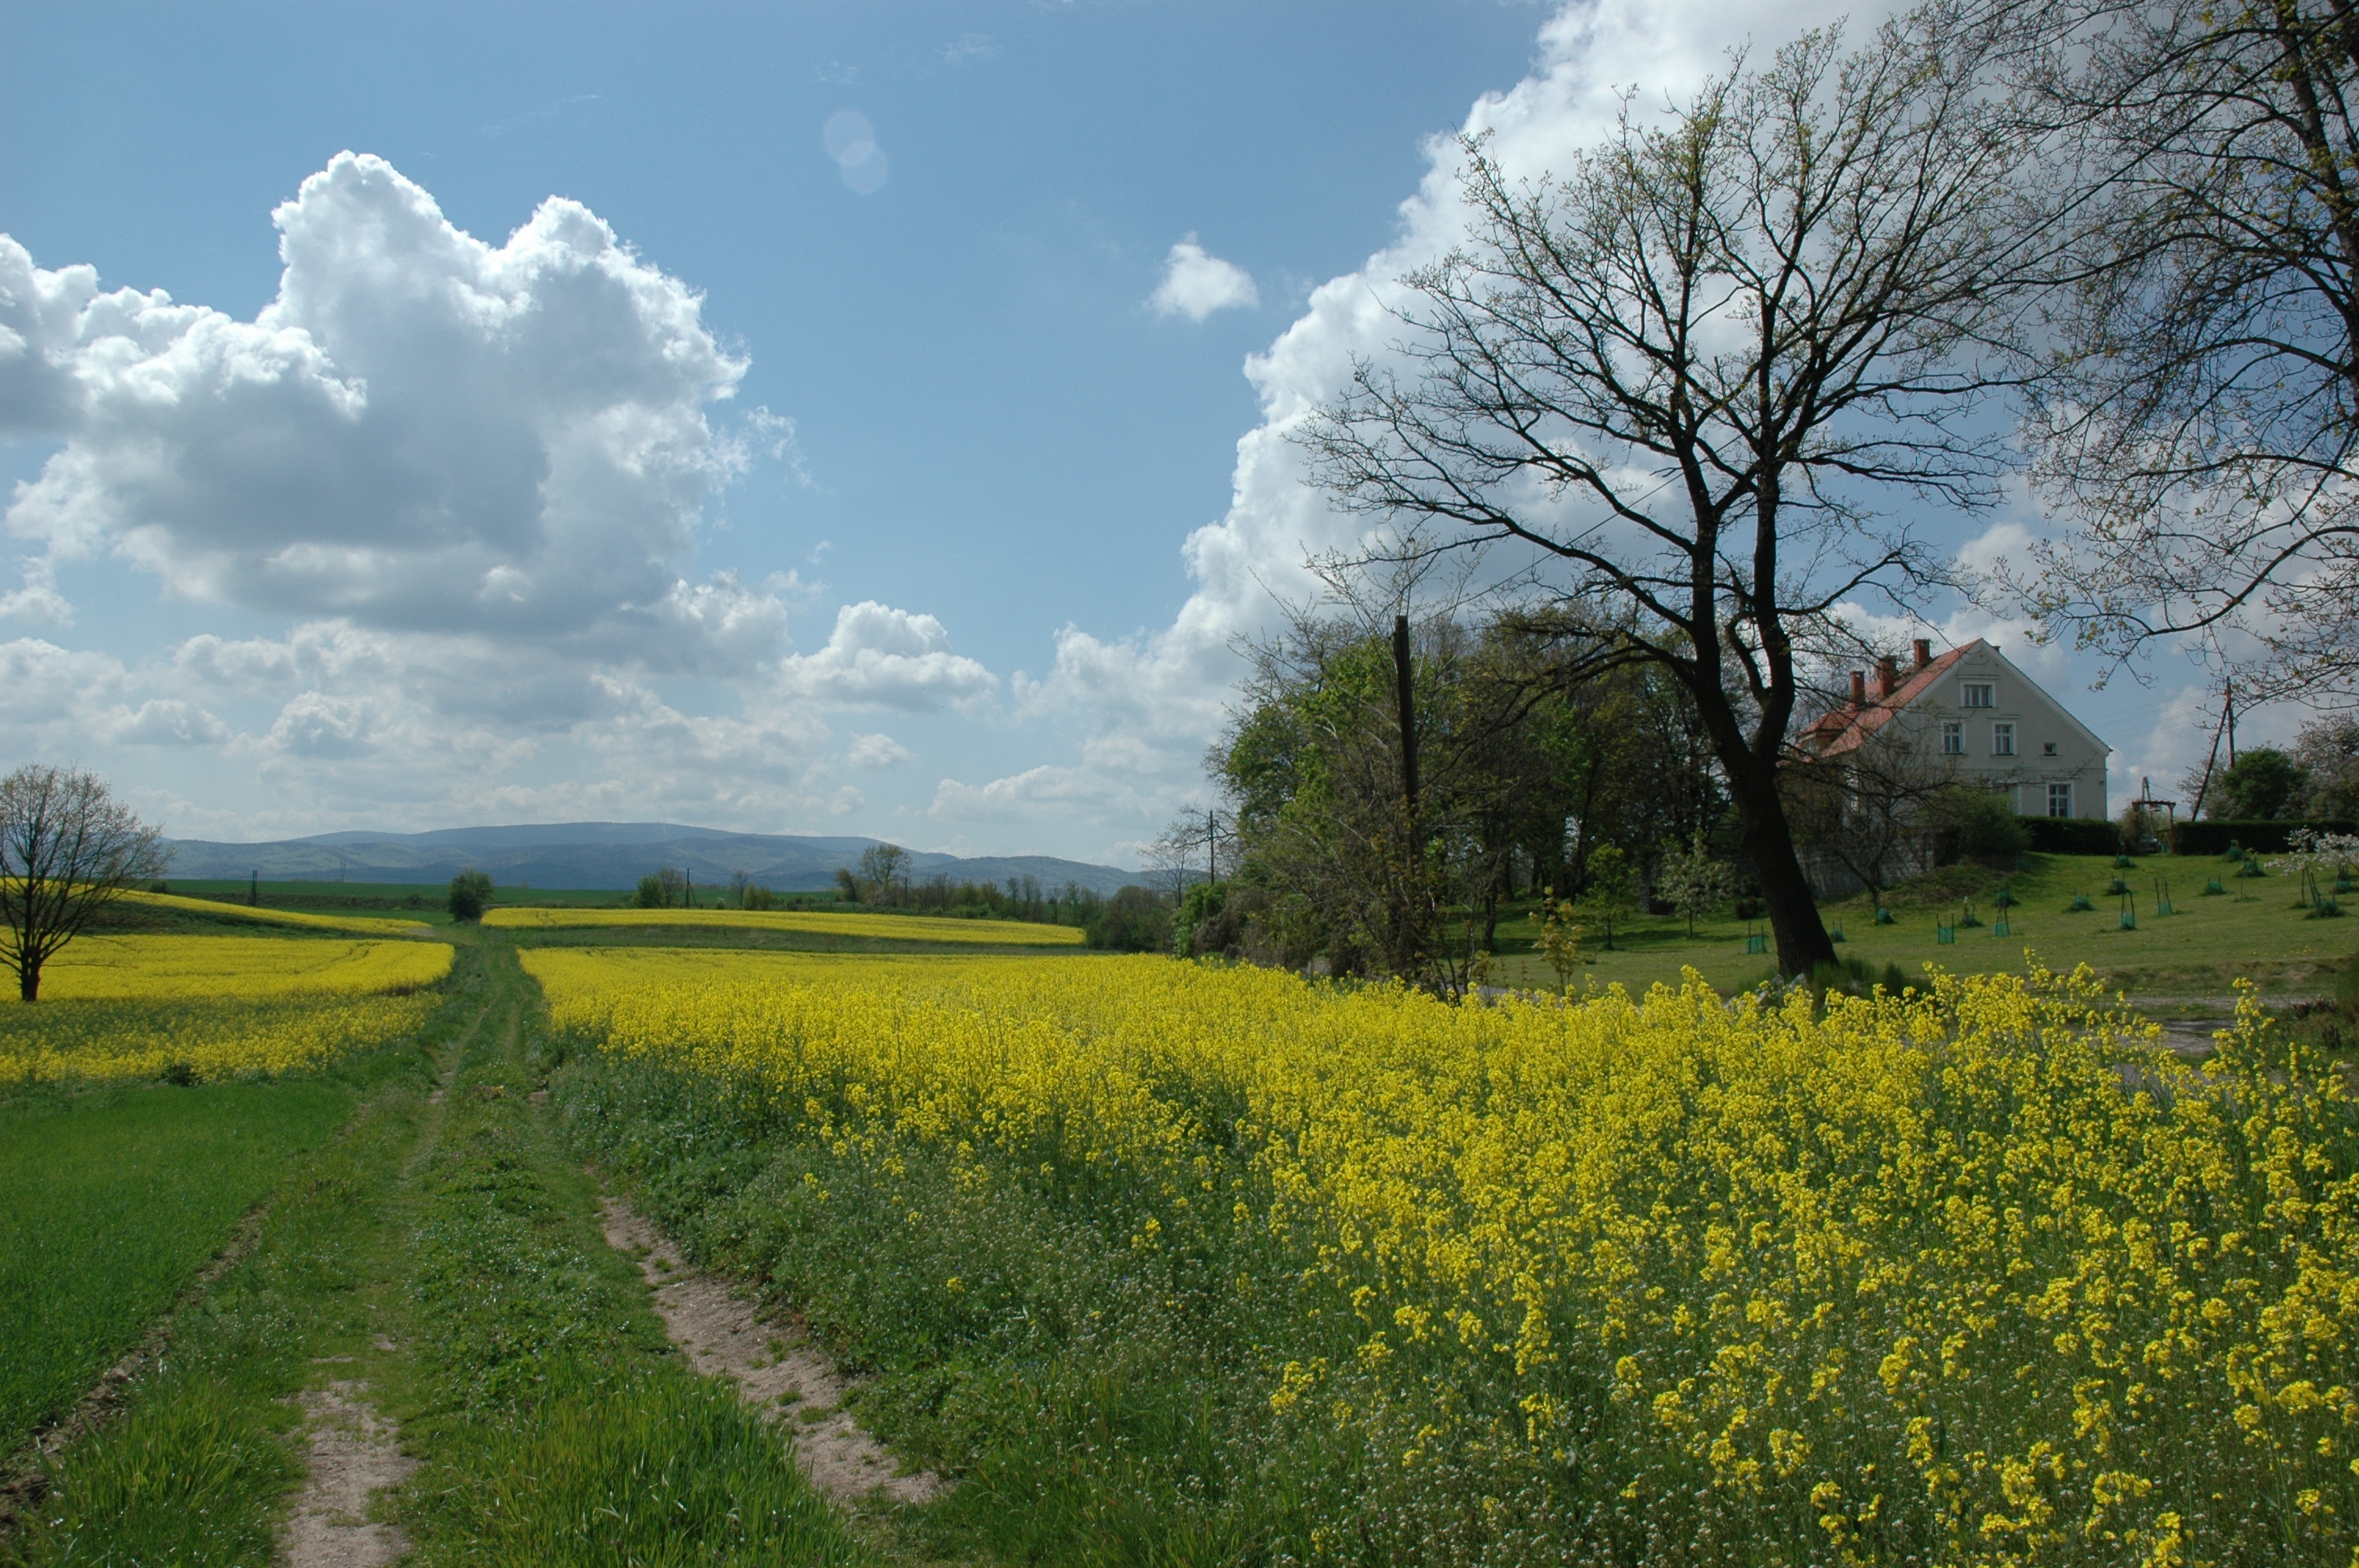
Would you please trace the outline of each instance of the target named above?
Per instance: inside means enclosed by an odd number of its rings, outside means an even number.
[[[137,1344],[351,1106],[328,1078],[0,1106],[0,1455]]]

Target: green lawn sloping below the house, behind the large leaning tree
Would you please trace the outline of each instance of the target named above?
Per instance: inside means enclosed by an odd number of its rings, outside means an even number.
[[[2305,920],[2293,908],[2295,884],[2286,877],[2227,877],[2225,896],[2206,898],[2206,877],[2234,870],[2215,858],[2147,856],[2130,870],[2116,870],[2111,856],[2029,856],[2029,872],[2000,872],[1982,865],[1951,865],[1918,884],[1892,889],[1887,908],[1894,924],[1875,924],[1873,905],[1842,898],[1821,905],[1828,927],[1842,927],[1835,953],[1873,969],[1899,964],[1923,974],[1932,962],[1953,974],[2022,971],[2031,950],[2050,969],[2088,964],[2109,986],[2135,997],[2222,1002],[2232,981],[2250,976],[2272,995],[2312,995],[2326,990],[2331,976],[2359,955],[2359,920]],[[2116,917],[2118,898],[2104,889],[2123,877],[2137,894],[2137,929],[2123,931]],[[2154,879],[2170,879],[2175,915],[2154,913]],[[1998,908],[1993,891],[2008,884],[2022,903],[2008,910],[2010,934],[1996,936]],[[2066,913],[2074,894],[2095,905]],[[1958,915],[1960,898],[1972,896],[1979,927],[1960,927],[1956,943],[1939,943],[1934,927]],[[1573,986],[1623,983],[1642,990],[1656,981],[1677,983],[1682,967],[1698,969],[1722,990],[1741,990],[1774,974],[1769,955],[1746,953],[1746,922],[1720,915],[1698,920],[1696,936],[1668,915],[1614,920],[1614,950],[1604,950],[1604,924],[1585,913],[1588,938]],[[1767,934],[1757,920],[1753,931]],[[1555,974],[1531,953],[1538,929],[1529,920],[1498,927],[1498,981],[1507,986],[1555,986]]]

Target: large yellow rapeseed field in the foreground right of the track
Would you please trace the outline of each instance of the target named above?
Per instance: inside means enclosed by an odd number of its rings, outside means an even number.
[[[2189,1068],[2050,974],[1821,1014],[1694,976],[1456,1007],[1156,957],[524,962],[561,1033],[878,1181],[925,1151],[1142,1195],[1130,1250],[1283,1304],[1272,1443],[1356,1455],[1312,1556],[1439,1509],[1465,1561],[2359,1561],[2359,1132],[2250,995]]]

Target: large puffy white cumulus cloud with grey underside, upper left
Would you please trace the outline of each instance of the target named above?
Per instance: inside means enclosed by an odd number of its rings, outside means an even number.
[[[12,533],[184,599],[689,670],[771,653],[783,613],[672,568],[731,467],[705,410],[745,373],[686,283],[559,196],[488,245],[373,156],[274,222],[252,321],[0,236],[0,434],[61,439]]]

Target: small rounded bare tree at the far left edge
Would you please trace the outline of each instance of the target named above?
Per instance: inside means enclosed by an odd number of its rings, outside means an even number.
[[[97,773],[33,762],[0,778],[0,941],[17,993],[38,1002],[40,967],[165,861],[163,835]]]

